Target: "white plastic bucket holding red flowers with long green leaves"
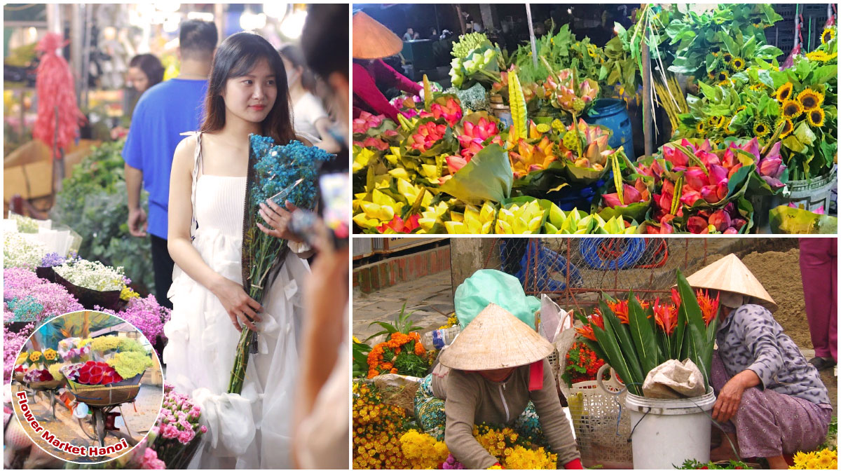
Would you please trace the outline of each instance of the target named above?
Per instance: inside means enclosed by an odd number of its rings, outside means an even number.
[[[670,470],[685,460],[710,461],[712,390],[684,399],[625,398],[631,415],[633,467]]]

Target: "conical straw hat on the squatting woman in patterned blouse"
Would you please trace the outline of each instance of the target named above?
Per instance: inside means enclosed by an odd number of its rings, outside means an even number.
[[[733,253],[699,269],[686,278],[686,281],[694,288],[727,290],[748,295],[761,301],[770,311],[777,310],[776,303],[762,287],[759,279],[756,279],[750,269]]]

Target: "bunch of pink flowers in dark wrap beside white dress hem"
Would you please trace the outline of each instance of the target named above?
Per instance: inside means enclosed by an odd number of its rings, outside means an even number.
[[[148,449],[154,449],[155,460],[162,461],[167,468],[181,469],[193,457],[202,434],[208,429],[198,422],[202,416],[201,407],[193,404],[188,396],[167,384],[164,393],[161,412],[147,437]]]

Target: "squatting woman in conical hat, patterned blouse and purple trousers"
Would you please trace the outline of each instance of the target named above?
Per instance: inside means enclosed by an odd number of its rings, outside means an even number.
[[[826,386],[791,337],[774,320],[776,304],[736,257],[687,278],[720,297],[717,353],[711,385],[718,397],[712,417],[727,433],[711,460],[764,457],[786,469],[783,455],[816,448],[826,437],[833,407]],[[738,449],[733,451],[730,442]]]

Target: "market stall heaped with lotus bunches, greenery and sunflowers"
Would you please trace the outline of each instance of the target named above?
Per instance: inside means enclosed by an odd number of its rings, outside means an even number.
[[[633,19],[604,46],[553,22],[517,48],[461,35],[397,120],[357,109],[357,232],[834,232],[833,17],[787,59],[770,5]]]

